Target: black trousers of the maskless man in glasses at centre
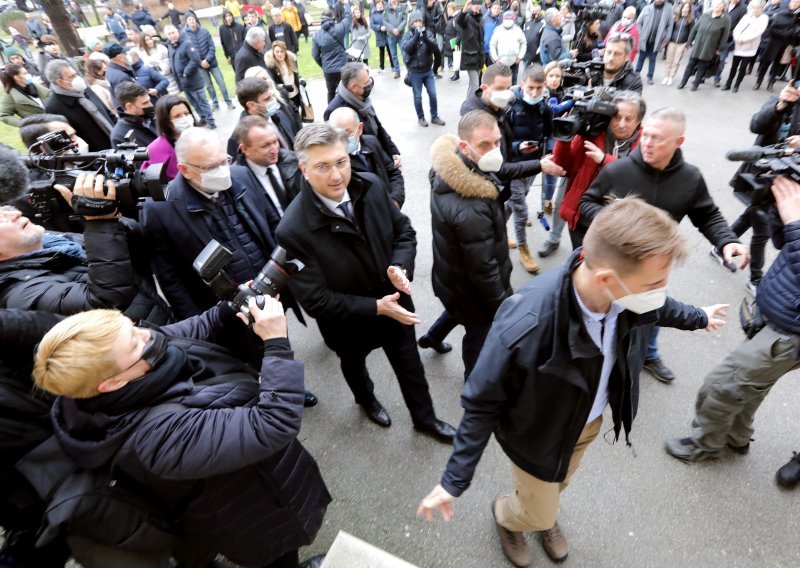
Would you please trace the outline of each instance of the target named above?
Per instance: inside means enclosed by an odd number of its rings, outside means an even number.
[[[411,414],[414,426],[424,428],[436,420],[433,400],[425,379],[425,368],[419,358],[414,327],[398,322],[384,322],[384,331],[376,330],[375,343],[379,345],[392,366],[400,392]],[[367,404],[375,400],[375,384],[367,371],[367,355],[373,347],[353,345],[352,348],[336,351],[347,386],[353,392],[356,404]]]

